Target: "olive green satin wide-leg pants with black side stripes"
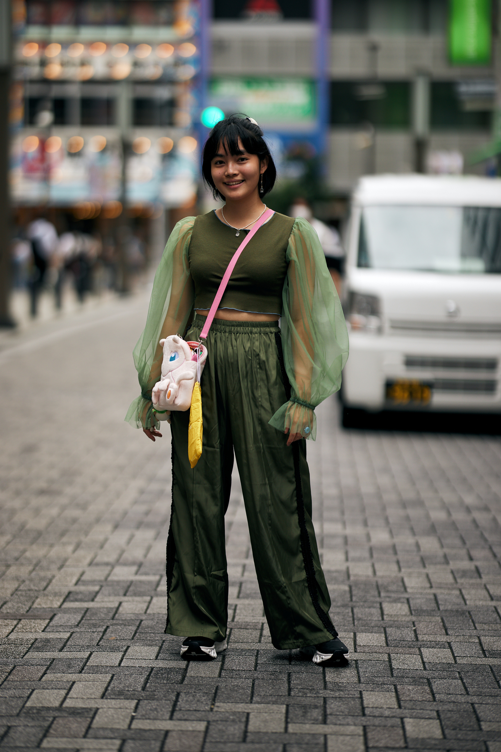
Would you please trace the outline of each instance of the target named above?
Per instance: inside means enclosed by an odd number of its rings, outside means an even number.
[[[188,340],[204,318],[195,316]],[[215,320],[201,379],[203,451],[188,459],[189,411],[172,413],[172,515],[165,632],[221,641],[228,621],[225,511],[237,459],[256,574],[273,645],[337,636],[321,571],[304,441],[268,425],[290,395],[279,326]]]

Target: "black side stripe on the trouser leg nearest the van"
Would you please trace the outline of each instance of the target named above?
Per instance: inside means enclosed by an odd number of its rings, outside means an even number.
[[[282,379],[285,387],[285,396],[287,399],[291,396],[291,384],[288,381],[287,372],[285,371],[285,364],[282,351],[282,337],[280,332],[275,333],[276,347],[279,353],[280,371],[282,371]],[[296,480],[296,499],[297,499],[297,520],[299,522],[300,529],[300,541],[301,541],[301,553],[303,554],[304,571],[306,572],[306,584],[308,586],[309,597],[312,599],[313,608],[320,619],[321,623],[327,629],[327,632],[337,637],[337,631],[330,621],[329,614],[326,614],[324,609],[321,608],[318,602],[318,584],[315,577],[315,566],[313,565],[312,547],[309,542],[308,530],[306,529],[306,520],[304,517],[304,499],[303,499],[303,486],[301,484],[301,473],[299,466],[299,447],[297,441],[293,441],[291,445],[292,457],[294,459],[294,475]]]

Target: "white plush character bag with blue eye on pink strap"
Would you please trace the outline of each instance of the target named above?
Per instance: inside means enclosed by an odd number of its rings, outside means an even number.
[[[152,388],[153,407],[155,410],[189,410],[193,387],[200,381],[207,360],[207,347],[201,342],[185,342],[177,335],[161,339],[160,344],[164,348],[164,359],[161,379]]]

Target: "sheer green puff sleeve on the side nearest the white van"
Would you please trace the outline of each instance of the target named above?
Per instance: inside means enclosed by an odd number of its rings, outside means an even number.
[[[294,222],[287,260],[281,327],[291,399],[270,425],[315,440],[314,409],[341,386],[348,332],[318,235],[306,220]]]

